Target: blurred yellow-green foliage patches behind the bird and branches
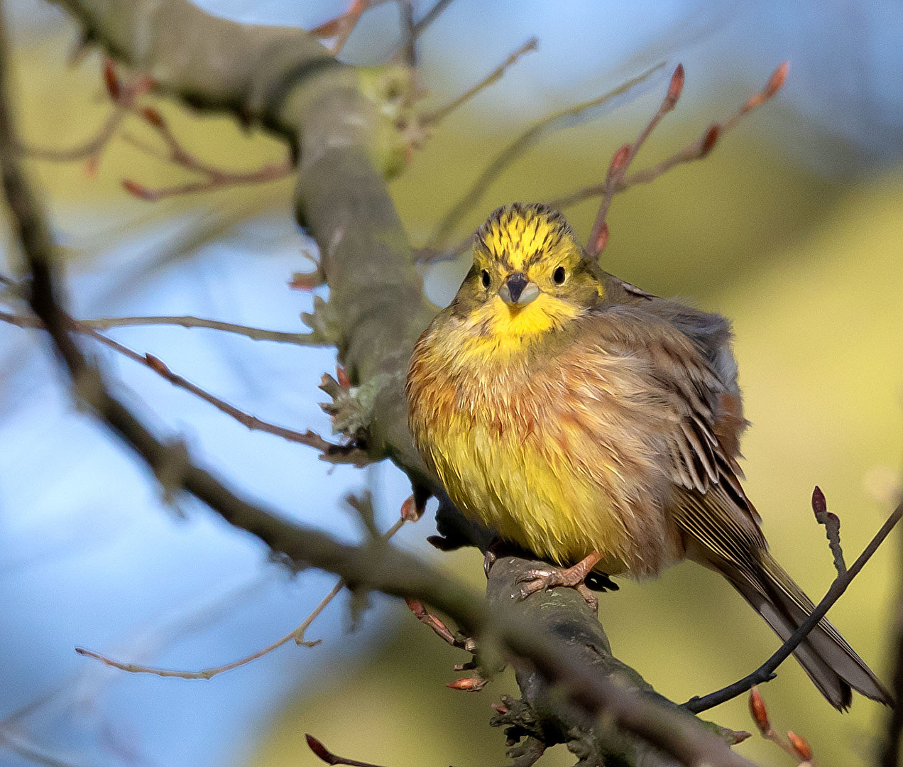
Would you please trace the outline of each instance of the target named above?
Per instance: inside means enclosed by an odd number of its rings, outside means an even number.
[[[66,45],[59,39],[20,52],[20,70],[28,71],[27,80],[20,79],[27,140],[65,146],[90,136],[109,112],[96,58],[77,70],[63,70]],[[699,114],[678,108],[638,164],[651,164],[698,136],[713,116],[724,113],[721,106]],[[172,104],[162,109],[173,130],[211,163],[253,168],[283,156],[275,141],[249,139],[230,120],[193,116]],[[475,206],[468,226],[476,226],[498,204],[548,199],[598,182],[611,152],[636,135],[638,115],[565,131],[531,150]],[[842,541],[852,560],[889,511],[888,488],[898,475],[903,178],[892,174],[855,186],[826,181],[777,154],[768,136],[757,133],[756,119],[723,136],[705,161],[619,196],[603,263],[648,290],[687,296],[734,319],[753,422],[744,442],[749,495],[777,558],[817,599],[833,570],[824,531],[808,508],[813,485],[822,486],[829,508],[840,514]],[[154,140],[134,119],[127,129]],[[452,121],[415,156],[392,186],[415,243],[426,239],[482,163],[509,138],[485,134],[475,121]],[[156,186],[185,175],[121,139],[104,154],[96,178],[87,178],[80,163],[35,162],[33,168],[58,214],[75,219],[79,210],[101,207],[107,223],[139,215],[166,220],[200,209],[227,210],[229,220],[270,209],[289,214],[285,201],[291,181],[156,206],[129,199],[121,191],[123,178]],[[569,211],[582,236],[594,210],[588,202]],[[436,295],[452,295],[466,268],[465,261],[436,267]],[[425,537],[429,523],[421,524]],[[476,552],[435,558],[480,585]],[[885,678],[898,558],[898,542],[891,540],[831,613]],[[619,658],[675,700],[739,678],[777,647],[768,627],[728,585],[693,565],[604,595],[600,618]],[[349,635],[349,646],[354,642]],[[249,763],[319,763],[303,744],[304,732],[337,753],[377,763],[502,763],[503,736],[489,730],[489,704],[500,692],[514,692],[513,680],[508,674],[473,695],[447,689],[444,683],[458,676],[452,664],[464,659],[399,607],[396,621],[386,623],[382,646],[367,657],[342,661],[318,684],[298,690],[261,734]],[[884,723],[880,706],[857,698],[851,714],[837,714],[793,662],[763,694],[775,724],[809,738],[824,767],[870,758]],[[736,700],[711,716],[721,725],[751,728],[745,706]],[[762,762],[788,763],[758,737],[740,749]],[[546,755],[543,763],[573,762],[559,752],[563,749]]]

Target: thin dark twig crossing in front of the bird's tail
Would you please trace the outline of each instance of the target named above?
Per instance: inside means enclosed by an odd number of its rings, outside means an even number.
[[[878,550],[878,547],[880,547],[884,539],[889,536],[890,531],[896,526],[901,517],[903,517],[903,501],[898,503],[897,508],[893,510],[893,513],[891,513],[884,524],[881,525],[880,530],[875,533],[875,537],[870,540],[869,545],[862,549],[861,555],[852,563],[850,569],[843,575],[838,575],[834,579],[831,588],[828,589],[827,594],[824,594],[822,601],[815,605],[815,610],[809,614],[804,622],[800,623],[799,627],[788,637],[787,641],[785,641],[768,660],[759,666],[758,669],[734,682],[732,685],[722,687],[720,690],[716,690],[709,695],[690,698],[690,700],[684,703],[684,707],[694,714],[699,714],[703,711],[708,711],[713,706],[720,706],[725,701],[731,700],[731,698],[743,695],[743,693],[747,692],[754,685],[768,682],[770,679],[774,678],[777,667],[790,657],[793,651],[799,647],[800,643],[805,640],[809,633],[815,629],[815,626],[817,626],[822,618],[824,618],[824,615],[831,609],[833,603],[841,598],[843,592],[847,590],[847,586],[852,583],[852,579],[855,578],[856,575],[859,575],[860,570]]]

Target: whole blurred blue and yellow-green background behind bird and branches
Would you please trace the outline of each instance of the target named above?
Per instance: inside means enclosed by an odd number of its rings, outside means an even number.
[[[77,30],[36,0],[9,0],[19,119],[28,144],[87,140],[111,110],[96,52],[67,64]],[[204,0],[250,23],[310,29],[345,0],[256,4]],[[430,3],[415,0],[415,14]],[[520,157],[475,200],[461,239],[499,204],[548,200],[600,182],[613,151],[637,136],[678,61],[684,95],[638,157],[653,164],[728,117],[780,61],[787,85],[722,136],[703,162],[619,195],[603,266],[659,295],[682,295],[734,320],[741,384],[753,426],[743,444],[747,489],[777,559],[817,599],[833,577],[824,530],[809,510],[819,484],[842,519],[852,560],[892,508],[903,454],[903,6],[855,2],[482,3],[457,0],[419,43],[425,108],[454,98],[536,35],[539,50],[455,112],[414,154],[391,190],[415,244],[466,193],[489,159],[536,120],[665,61],[620,98],[573,120]],[[364,16],[341,58],[385,61],[398,11]],[[154,103],[185,145],[211,164],[254,169],[284,148],[231,121]],[[29,164],[51,206],[67,259],[72,313],[82,318],[197,314],[303,331],[312,294],[289,290],[315,246],[293,225],[291,180],[159,202],[148,188],[189,176],[149,158],[126,134],[153,142],[132,118],[103,153]],[[596,203],[568,210],[582,237]],[[7,232],[5,274],[18,269]],[[429,295],[450,300],[467,257],[424,268]],[[319,289],[318,292],[321,292]],[[325,294],[323,294],[325,296]],[[110,332],[152,352],[256,416],[328,435],[319,407],[328,350],[249,341],[209,330]],[[387,528],[408,494],[392,465],[330,468],[309,448],[244,426],[129,360],[98,356],[122,394],[156,426],[178,433],[238,490],[349,540],[362,535],[342,501],[374,493]],[[291,631],[334,582],[296,577],[256,540],[199,505],[163,499],[121,444],[73,407],[47,341],[0,325],[0,763],[254,765],[317,762],[303,734],[378,764],[505,763],[490,703],[514,692],[509,675],[478,695],[444,687],[461,655],[404,607],[379,597],[352,622],[342,595],[307,639],[209,681],[130,675],[79,657],[76,646],[171,669],[202,669]],[[400,546],[480,586],[475,551],[440,555],[424,543],[432,516]],[[832,610],[832,620],[880,676],[898,593],[898,537]],[[694,565],[622,583],[601,598],[615,653],[682,701],[740,678],[777,640],[731,588]],[[778,728],[804,734],[824,767],[874,763],[887,712],[863,698],[837,714],[795,663],[763,687]],[[710,712],[753,729],[741,698]],[[742,753],[789,757],[758,736]],[[574,758],[558,747],[544,764]]]

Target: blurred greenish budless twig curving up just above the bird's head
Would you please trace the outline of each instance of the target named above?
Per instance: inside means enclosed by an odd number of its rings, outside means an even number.
[[[609,102],[612,98],[627,93],[628,90],[634,88],[643,80],[646,80],[651,74],[656,72],[656,70],[661,69],[663,66],[664,64],[656,64],[656,66],[649,68],[638,75],[638,77],[621,83],[617,88],[610,90],[608,93],[596,98],[591,98],[589,101],[582,101],[580,104],[576,104],[573,107],[568,107],[555,112],[527,128],[526,131],[520,136],[517,136],[514,141],[492,158],[483,173],[480,173],[479,178],[473,182],[470,189],[461,196],[461,200],[452,207],[452,210],[449,210],[445,214],[439,222],[439,225],[433,230],[433,234],[427,240],[427,247],[441,250],[446,239],[448,239],[449,235],[452,234],[452,231],[461,223],[461,220],[464,219],[468,211],[479,204],[479,201],[487,192],[489,186],[495,182],[501,173],[504,173],[507,170],[510,164],[514,163],[543,136],[557,128],[567,126],[569,121],[574,117],[580,117],[584,112],[600,107]]]

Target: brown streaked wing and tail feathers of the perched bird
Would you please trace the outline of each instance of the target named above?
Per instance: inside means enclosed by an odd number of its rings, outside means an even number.
[[[628,326],[636,322],[637,309],[613,311],[624,313]],[[725,575],[786,640],[812,612],[813,603],[768,554],[758,514],[740,486],[736,458],[746,422],[738,410],[736,369],[732,381],[725,381],[711,357],[674,324],[663,327],[660,319],[649,320],[643,332],[637,331],[627,334],[634,342],[631,353],[650,361],[651,376],[675,416],[663,425],[666,465],[675,484],[669,511],[688,536],[688,554]],[[837,708],[850,705],[851,687],[892,702],[869,667],[824,619],[795,654]]]

